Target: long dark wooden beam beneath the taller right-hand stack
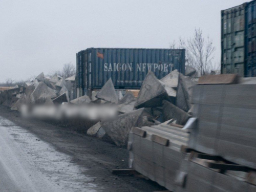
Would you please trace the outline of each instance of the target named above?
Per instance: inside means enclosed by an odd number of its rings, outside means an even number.
[[[249,168],[242,165],[235,164],[225,164],[225,163],[212,163],[208,162],[208,167],[213,169],[223,169],[223,170],[236,170],[238,172],[248,172]]]

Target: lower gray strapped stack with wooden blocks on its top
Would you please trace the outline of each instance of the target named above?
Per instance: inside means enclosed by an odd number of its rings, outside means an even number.
[[[182,145],[188,134],[180,127],[160,124],[134,127],[129,135],[130,167],[169,190],[176,188],[175,179],[182,159]]]

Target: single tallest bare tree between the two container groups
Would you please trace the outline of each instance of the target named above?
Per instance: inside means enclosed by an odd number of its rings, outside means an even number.
[[[205,39],[201,29],[195,29],[194,37],[187,40],[187,52],[191,57],[190,65],[201,75],[209,74],[212,69],[215,50],[212,39],[209,35]]]

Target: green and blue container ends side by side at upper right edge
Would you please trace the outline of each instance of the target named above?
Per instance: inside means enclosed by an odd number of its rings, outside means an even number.
[[[256,76],[256,1],[221,11],[221,73]]]

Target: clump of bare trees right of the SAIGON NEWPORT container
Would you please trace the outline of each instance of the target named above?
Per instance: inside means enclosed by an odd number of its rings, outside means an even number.
[[[195,34],[192,38],[185,41],[181,37],[178,42],[173,41],[170,44],[171,49],[186,49],[186,66],[190,66],[199,71],[200,75],[210,74],[215,66],[212,64],[216,48],[212,44],[212,39],[209,35],[207,39],[203,37],[201,29],[195,29]]]

